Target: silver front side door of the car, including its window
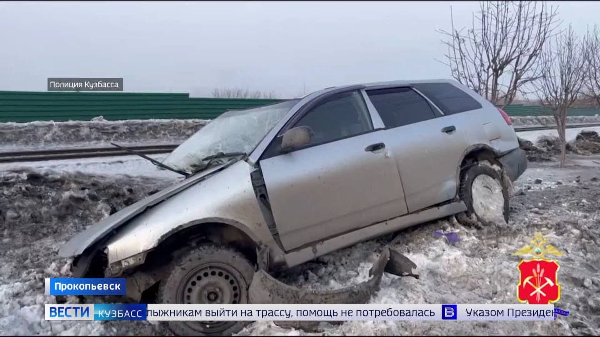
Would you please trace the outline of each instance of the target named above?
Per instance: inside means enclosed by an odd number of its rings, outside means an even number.
[[[374,130],[360,91],[324,98],[299,110],[293,125],[314,133],[283,153],[275,137],[259,161],[281,243],[289,251],[406,213],[400,174]]]

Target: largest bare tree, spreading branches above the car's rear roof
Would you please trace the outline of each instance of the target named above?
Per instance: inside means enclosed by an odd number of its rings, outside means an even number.
[[[450,8],[452,31],[437,31],[448,46],[440,62],[455,80],[504,107],[539,78],[539,54],[560,24],[558,8],[537,1],[482,1],[479,7],[466,31],[454,27]]]

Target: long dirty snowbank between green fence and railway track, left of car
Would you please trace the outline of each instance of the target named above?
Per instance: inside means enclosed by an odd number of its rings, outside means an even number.
[[[35,149],[181,143],[206,125],[203,119],[130,119],[0,123],[0,149]]]

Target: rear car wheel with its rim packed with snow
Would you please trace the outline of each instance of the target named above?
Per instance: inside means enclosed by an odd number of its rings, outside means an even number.
[[[477,182],[476,186],[485,187],[484,194],[482,194],[480,188],[476,188],[474,195],[474,182]],[[488,194],[485,194],[487,193],[487,189],[489,189],[489,192]],[[463,169],[460,174],[460,188],[458,193],[461,200],[463,200],[467,206],[466,212],[458,213],[456,215],[458,222],[461,224],[476,228],[481,228],[484,225],[498,224],[500,219],[494,221],[487,213],[482,211],[482,207],[485,207],[483,205],[493,202],[502,203],[502,205],[498,205],[498,207],[502,210],[502,218],[508,223],[511,210],[508,188],[502,183],[500,173],[492,167],[478,163]],[[473,197],[475,197],[476,200],[473,200]],[[490,198],[490,200],[486,200],[486,198]],[[500,211],[500,209],[497,211]]]

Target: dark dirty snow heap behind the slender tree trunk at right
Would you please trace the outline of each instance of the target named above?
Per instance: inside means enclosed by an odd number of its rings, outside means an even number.
[[[554,136],[539,137],[535,145],[529,140],[519,139],[521,149],[527,153],[529,161],[551,161],[560,155],[560,139]],[[566,143],[568,154],[600,154],[600,136],[596,131],[582,130],[574,142]]]

